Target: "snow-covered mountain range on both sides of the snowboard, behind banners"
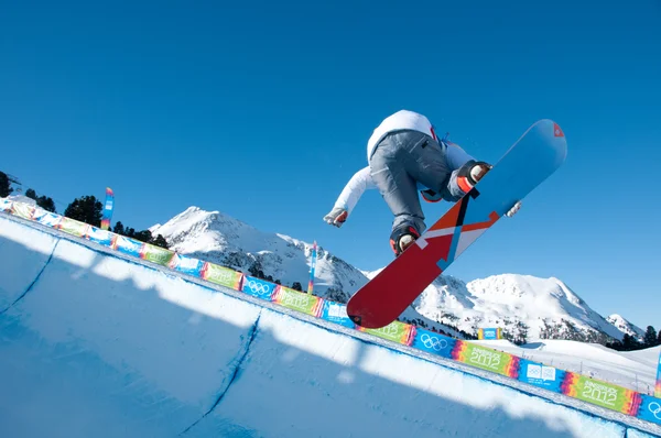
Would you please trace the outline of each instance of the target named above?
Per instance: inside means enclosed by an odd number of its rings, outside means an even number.
[[[171,249],[182,254],[285,286],[299,283],[305,288],[310,278],[312,243],[262,232],[219,211],[191,207],[150,231],[154,236],[162,234]],[[360,271],[319,245],[314,293],[346,303],[378,272]],[[614,325],[615,319],[605,319],[557,278],[518,274],[495,275],[469,283],[443,275],[400,319],[457,337],[476,336],[480,327],[501,327],[509,339],[517,341],[605,342],[609,338],[621,339],[629,329],[633,330],[631,325]]]

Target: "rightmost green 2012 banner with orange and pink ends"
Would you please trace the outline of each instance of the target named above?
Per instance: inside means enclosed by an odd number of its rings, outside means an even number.
[[[573,372],[565,372],[562,393],[594,405],[636,415],[640,406],[640,394],[611,383],[593,380]]]

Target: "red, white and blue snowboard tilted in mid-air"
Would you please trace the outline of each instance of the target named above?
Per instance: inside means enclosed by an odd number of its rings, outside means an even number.
[[[472,243],[551,176],[566,153],[557,123],[544,119],[532,124],[469,193],[351,296],[349,318],[372,329],[395,320]]]

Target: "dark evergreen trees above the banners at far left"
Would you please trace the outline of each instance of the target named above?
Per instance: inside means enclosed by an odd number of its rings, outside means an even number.
[[[0,197],[6,198],[14,190],[11,187],[11,179],[6,173],[0,171]],[[25,196],[34,199],[36,205],[44,210],[57,213],[53,198],[45,195],[40,196],[32,188],[25,190]],[[100,228],[101,219],[104,217],[104,205],[94,195],[82,196],[74,199],[66,207],[64,210],[64,216]],[[141,242],[151,243],[165,249],[169,248],[167,241],[165,238],[163,238],[163,236],[152,236],[151,231],[149,230],[136,231],[134,228],[126,227],[120,221],[115,223],[115,227],[111,231],[116,234],[126,236],[127,238],[136,239]]]

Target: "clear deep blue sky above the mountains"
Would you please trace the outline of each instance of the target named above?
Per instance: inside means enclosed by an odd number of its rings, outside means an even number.
[[[422,112],[491,162],[551,118],[565,165],[447,274],[556,276],[661,328],[660,47],[653,0],[14,2],[0,169],[59,212],[110,186],[137,229],[194,205],[373,270],[392,260],[379,194],[339,230],[322,217],[384,117]]]

